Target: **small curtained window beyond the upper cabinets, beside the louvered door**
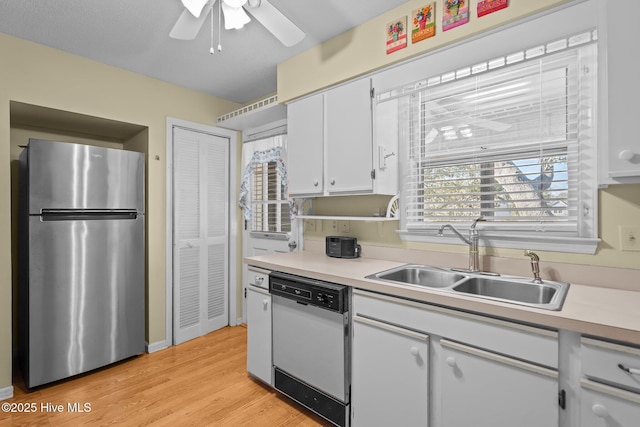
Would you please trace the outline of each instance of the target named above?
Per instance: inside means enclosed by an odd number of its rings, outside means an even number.
[[[253,218],[251,231],[288,233],[291,231],[289,202],[285,201],[277,162],[254,165],[251,181],[251,205]]]

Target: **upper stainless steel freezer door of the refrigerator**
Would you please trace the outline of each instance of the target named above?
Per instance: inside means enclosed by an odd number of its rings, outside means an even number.
[[[144,210],[144,155],[30,139],[29,213],[43,209]]]

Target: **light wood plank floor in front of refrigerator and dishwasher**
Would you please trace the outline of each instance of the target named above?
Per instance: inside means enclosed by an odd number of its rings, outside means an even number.
[[[35,412],[0,411],[0,426],[330,425],[249,377],[246,354],[246,328],[227,327],[29,393],[16,378],[14,397],[0,403]],[[76,403],[90,410],[70,411]]]

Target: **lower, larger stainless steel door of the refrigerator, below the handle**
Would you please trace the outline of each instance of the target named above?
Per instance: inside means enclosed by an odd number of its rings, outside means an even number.
[[[144,216],[29,227],[27,385],[142,353]]]

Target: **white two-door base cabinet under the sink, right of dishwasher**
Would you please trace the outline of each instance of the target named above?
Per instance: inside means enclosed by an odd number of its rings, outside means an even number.
[[[353,426],[559,426],[556,331],[357,289],[352,309]]]

